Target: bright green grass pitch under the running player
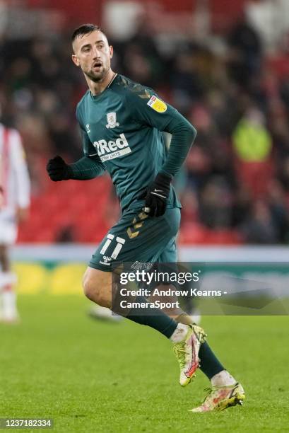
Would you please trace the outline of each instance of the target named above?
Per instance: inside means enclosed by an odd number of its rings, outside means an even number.
[[[154,330],[93,321],[81,296],[22,295],[19,308],[20,325],[0,325],[0,417],[52,417],[57,433],[289,430],[288,317],[203,318],[246,400],[192,414],[208,381],[199,371],[181,388],[171,343]]]

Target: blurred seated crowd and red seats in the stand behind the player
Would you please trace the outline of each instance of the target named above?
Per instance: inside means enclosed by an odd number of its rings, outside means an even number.
[[[198,130],[175,180],[183,204],[181,241],[288,243],[289,38],[271,55],[242,16],[218,43],[214,37],[209,41],[182,37],[173,49],[162,50],[149,25],[140,21],[129,40],[110,37],[113,69],[154,88]],[[86,87],[70,53],[67,31],[50,38],[1,36],[1,119],[22,134],[33,182],[33,220],[23,241],[94,242],[117,218],[107,180],[81,186],[73,181],[70,190],[60,190],[45,173],[47,158],[55,154],[71,162],[81,156],[75,108]],[[107,198],[100,206],[95,197],[104,190]],[[75,226],[69,212],[78,214]],[[107,225],[93,226],[93,212]],[[81,235],[77,226],[83,223]]]

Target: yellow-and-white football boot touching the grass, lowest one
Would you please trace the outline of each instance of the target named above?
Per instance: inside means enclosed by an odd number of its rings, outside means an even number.
[[[225,410],[230,406],[242,405],[245,394],[244,388],[240,383],[229,386],[212,386],[206,388],[208,394],[198,408],[191,409],[190,412],[212,412],[213,410]]]

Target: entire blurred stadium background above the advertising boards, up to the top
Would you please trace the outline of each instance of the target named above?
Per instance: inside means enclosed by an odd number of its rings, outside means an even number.
[[[0,0],[0,17],[1,122],[23,137],[33,187],[19,243],[95,246],[119,216],[107,175],[55,184],[45,171],[56,154],[82,154],[86,85],[70,38],[92,22],[114,46],[113,69],[198,130],[175,179],[180,246],[288,245],[287,0]]]

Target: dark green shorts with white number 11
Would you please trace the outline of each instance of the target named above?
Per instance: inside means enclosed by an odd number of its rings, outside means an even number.
[[[175,239],[180,209],[167,209],[163,217],[151,218],[131,210],[117,221],[93,254],[89,266],[112,271],[112,262],[176,262]]]

